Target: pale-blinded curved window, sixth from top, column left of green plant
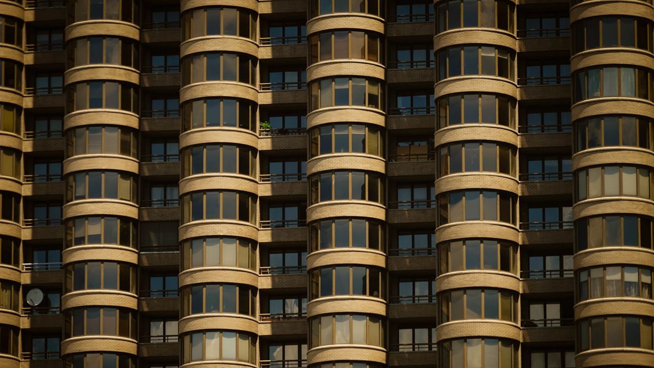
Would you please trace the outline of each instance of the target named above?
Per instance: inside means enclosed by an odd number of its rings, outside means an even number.
[[[193,238],[182,242],[182,269],[239,267],[254,270],[256,242],[245,238]]]

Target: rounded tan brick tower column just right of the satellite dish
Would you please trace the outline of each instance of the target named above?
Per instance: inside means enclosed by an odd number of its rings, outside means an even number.
[[[64,361],[136,363],[139,4],[68,3]]]

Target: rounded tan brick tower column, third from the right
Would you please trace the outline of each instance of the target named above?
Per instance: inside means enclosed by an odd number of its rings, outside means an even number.
[[[307,363],[375,367],[387,363],[385,20],[381,1],[341,3],[311,2],[307,22]]]

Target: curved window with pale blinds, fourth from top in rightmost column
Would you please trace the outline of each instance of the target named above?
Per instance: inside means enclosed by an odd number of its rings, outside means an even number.
[[[654,198],[650,170],[636,166],[597,166],[577,170],[577,201],[602,196]]]

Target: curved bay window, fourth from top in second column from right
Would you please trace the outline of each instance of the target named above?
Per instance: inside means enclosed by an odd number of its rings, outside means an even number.
[[[496,172],[515,177],[516,149],[492,142],[466,142],[438,147],[438,177],[459,172]]]

